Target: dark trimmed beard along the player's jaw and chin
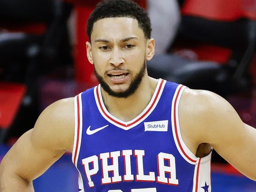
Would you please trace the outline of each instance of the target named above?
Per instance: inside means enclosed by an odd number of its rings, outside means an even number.
[[[132,80],[132,82],[130,83],[130,86],[128,87],[127,90],[121,91],[121,92],[115,92],[113,91],[108,83],[102,78],[102,76],[100,76],[95,68],[94,68],[94,74],[96,76],[96,78],[98,79],[98,82],[100,83],[100,86],[110,95],[116,98],[128,98],[129,96],[131,96],[132,94],[134,94],[134,92],[138,89],[139,85],[141,84],[141,81],[143,79],[143,77],[145,76],[145,72],[146,72],[146,61],[144,61],[143,66],[141,67],[141,69],[139,70],[139,73],[136,74],[135,78]]]

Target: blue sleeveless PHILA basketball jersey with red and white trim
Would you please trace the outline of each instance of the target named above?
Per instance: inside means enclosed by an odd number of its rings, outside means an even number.
[[[145,110],[129,122],[107,111],[100,89],[75,97],[72,161],[80,192],[211,192],[211,153],[195,157],[180,134],[185,86],[159,79]]]

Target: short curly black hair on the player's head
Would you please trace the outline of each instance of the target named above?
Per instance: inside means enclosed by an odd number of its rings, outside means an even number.
[[[93,24],[102,19],[109,17],[129,17],[138,21],[139,28],[147,39],[151,38],[151,23],[147,12],[137,3],[131,0],[104,0],[97,4],[94,11],[87,20],[87,35],[91,42],[91,33]]]

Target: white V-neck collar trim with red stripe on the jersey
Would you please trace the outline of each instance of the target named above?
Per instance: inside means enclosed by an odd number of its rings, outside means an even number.
[[[115,116],[113,116],[112,114],[110,114],[108,112],[108,110],[106,109],[106,107],[104,105],[103,99],[102,99],[100,85],[98,85],[94,88],[94,96],[95,96],[96,105],[98,107],[98,110],[100,111],[100,114],[108,122],[110,122],[111,124],[113,124],[117,127],[122,128],[124,130],[129,130],[132,127],[135,127],[138,124],[140,124],[141,122],[143,122],[143,120],[145,120],[152,113],[152,111],[155,109],[156,105],[158,104],[158,101],[161,98],[161,94],[165,87],[165,83],[166,83],[166,80],[163,80],[163,79],[158,80],[156,90],[154,91],[154,94],[153,94],[150,102],[148,103],[147,107],[143,110],[143,112],[141,114],[139,114],[137,117],[135,117],[133,120],[131,120],[129,122],[124,122],[122,120],[119,120],[118,118],[116,118]]]

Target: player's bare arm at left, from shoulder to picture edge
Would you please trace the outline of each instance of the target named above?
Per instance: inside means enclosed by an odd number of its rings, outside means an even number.
[[[33,179],[42,175],[66,150],[72,150],[74,102],[53,103],[35,127],[22,135],[0,165],[0,191],[33,192]]]

